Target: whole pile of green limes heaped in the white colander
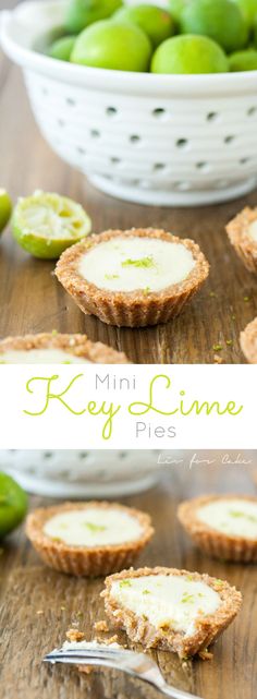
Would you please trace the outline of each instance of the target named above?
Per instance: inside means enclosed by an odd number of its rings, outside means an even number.
[[[257,70],[257,0],[69,0],[51,58],[152,73]]]

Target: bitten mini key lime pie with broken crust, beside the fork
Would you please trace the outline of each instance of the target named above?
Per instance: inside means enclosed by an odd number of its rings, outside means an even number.
[[[176,568],[123,570],[106,579],[107,615],[133,642],[188,658],[221,634],[242,596],[228,582]]]

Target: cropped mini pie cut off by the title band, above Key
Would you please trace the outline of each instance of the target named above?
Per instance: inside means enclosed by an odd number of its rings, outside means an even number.
[[[41,333],[0,341],[0,364],[126,364],[123,352],[86,335]]]

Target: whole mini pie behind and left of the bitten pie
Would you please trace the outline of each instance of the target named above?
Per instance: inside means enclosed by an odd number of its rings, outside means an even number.
[[[145,513],[90,502],[36,509],[27,518],[26,533],[51,568],[97,577],[130,566],[154,529]]]

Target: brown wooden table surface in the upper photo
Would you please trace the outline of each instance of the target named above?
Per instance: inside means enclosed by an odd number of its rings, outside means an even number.
[[[5,7],[15,3],[3,1]],[[221,345],[224,362],[244,361],[238,334],[257,315],[256,281],[236,258],[224,225],[245,204],[256,204],[256,192],[229,204],[187,209],[140,206],[105,196],[50,150],[33,119],[21,72],[2,56],[0,154],[0,185],[14,202],[38,188],[57,191],[87,208],[96,232],[158,226],[196,240],[211,264],[208,282],[180,317],[154,328],[118,329],[84,316],[51,276],[54,265],[33,260],[9,231],[0,248],[0,336],[53,328],[86,332],[93,340],[124,350],[136,363],[211,363],[213,346]]]

